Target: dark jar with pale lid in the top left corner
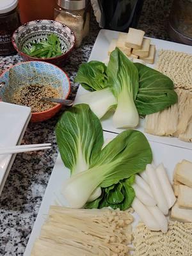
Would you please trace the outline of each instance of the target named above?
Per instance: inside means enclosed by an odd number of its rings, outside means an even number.
[[[0,55],[15,52],[12,45],[12,34],[20,26],[18,0],[0,1]]]

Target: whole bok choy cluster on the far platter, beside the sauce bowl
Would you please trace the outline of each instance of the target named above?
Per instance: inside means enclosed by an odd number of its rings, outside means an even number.
[[[75,81],[92,92],[79,95],[99,118],[113,106],[115,127],[136,127],[139,115],[156,113],[175,104],[173,81],[141,63],[132,63],[118,48],[111,52],[108,67],[90,61],[79,67]]]

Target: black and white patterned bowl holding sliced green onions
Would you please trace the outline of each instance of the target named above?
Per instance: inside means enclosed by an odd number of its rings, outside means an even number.
[[[35,58],[22,52],[24,47],[30,49],[32,43],[40,42],[42,39],[46,39],[47,35],[55,34],[60,38],[62,55],[54,58]],[[70,28],[65,24],[54,20],[33,20],[26,24],[23,24],[15,30],[12,36],[12,43],[16,51],[25,61],[42,60],[52,64],[63,66],[68,55],[72,51],[75,45],[75,36]]]

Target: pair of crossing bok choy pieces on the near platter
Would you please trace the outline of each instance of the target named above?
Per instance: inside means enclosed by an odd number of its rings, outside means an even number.
[[[145,170],[152,161],[150,145],[139,131],[124,131],[102,148],[102,127],[86,104],[63,113],[56,125],[56,139],[65,166],[74,173],[67,180],[63,195],[75,208],[83,207],[97,188],[103,190],[117,184],[116,189],[120,189],[121,183]],[[126,188],[124,186],[124,190]],[[127,189],[127,193],[129,191]],[[126,191],[123,195],[125,204]]]

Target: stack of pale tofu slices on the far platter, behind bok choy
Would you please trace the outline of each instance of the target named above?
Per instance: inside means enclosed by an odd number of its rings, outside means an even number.
[[[129,28],[128,33],[120,32],[117,39],[111,40],[108,55],[118,47],[127,57],[133,58],[134,62],[154,63],[156,47],[144,35],[144,31],[134,28]]]

